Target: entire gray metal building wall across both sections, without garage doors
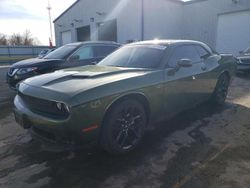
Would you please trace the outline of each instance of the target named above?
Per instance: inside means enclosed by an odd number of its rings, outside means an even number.
[[[249,9],[250,0],[238,0],[237,4],[232,0],[197,0],[193,3],[177,0],[80,0],[55,21],[56,44],[61,45],[61,32],[67,30],[71,30],[72,42],[76,41],[76,28],[84,25],[91,26],[91,40],[97,40],[97,23],[117,19],[120,43],[154,38],[194,39],[215,48],[218,16]],[[98,15],[97,12],[105,14]],[[90,18],[94,21],[91,22]]]

